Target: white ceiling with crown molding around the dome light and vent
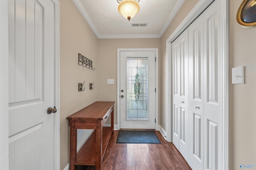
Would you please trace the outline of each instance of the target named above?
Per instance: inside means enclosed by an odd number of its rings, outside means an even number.
[[[119,14],[116,0],[73,1],[98,38],[150,38],[162,36],[185,0],[140,0],[140,11],[130,21]]]

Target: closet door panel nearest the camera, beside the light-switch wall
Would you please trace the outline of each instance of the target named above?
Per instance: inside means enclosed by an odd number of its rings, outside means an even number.
[[[204,12],[204,169],[221,169],[221,23],[220,2]]]

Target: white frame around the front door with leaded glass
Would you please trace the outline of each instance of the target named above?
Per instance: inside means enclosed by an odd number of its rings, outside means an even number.
[[[155,51],[156,53],[156,123],[155,129],[158,131],[158,48],[136,48],[136,49],[117,49],[117,130],[120,129],[120,52],[121,51]]]

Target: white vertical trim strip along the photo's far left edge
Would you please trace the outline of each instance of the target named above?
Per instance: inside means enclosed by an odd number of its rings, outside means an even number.
[[[8,115],[8,0],[0,2],[0,165],[9,169]]]

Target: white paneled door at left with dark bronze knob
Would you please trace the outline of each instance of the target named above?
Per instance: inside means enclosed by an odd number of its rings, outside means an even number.
[[[54,3],[9,0],[9,169],[54,169]]]

